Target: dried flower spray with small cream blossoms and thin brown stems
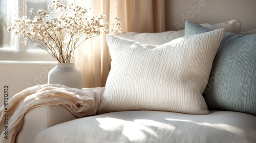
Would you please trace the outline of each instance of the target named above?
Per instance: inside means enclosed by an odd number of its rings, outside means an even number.
[[[18,18],[7,30],[24,37],[25,45],[32,43],[46,50],[59,63],[70,63],[74,50],[85,40],[109,32],[105,29],[109,22],[102,22],[105,15],[90,17],[88,9],[73,4],[65,7],[59,0],[53,0],[48,10],[38,10],[39,16],[33,20],[27,16]],[[115,33],[121,32],[118,20],[120,18],[115,17],[112,30]]]

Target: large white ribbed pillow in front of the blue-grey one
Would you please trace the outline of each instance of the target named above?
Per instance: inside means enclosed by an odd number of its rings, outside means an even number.
[[[202,93],[223,33],[218,29],[159,46],[107,35],[112,62],[98,113],[207,114]]]

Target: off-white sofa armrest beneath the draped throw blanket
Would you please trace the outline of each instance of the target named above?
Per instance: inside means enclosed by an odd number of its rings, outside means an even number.
[[[17,133],[15,142],[34,142],[42,130],[76,118],[62,105],[33,108],[24,115],[22,129]]]

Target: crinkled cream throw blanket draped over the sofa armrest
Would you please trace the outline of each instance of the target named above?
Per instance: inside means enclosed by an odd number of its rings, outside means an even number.
[[[34,107],[62,105],[77,117],[94,115],[103,91],[104,88],[76,89],[58,84],[36,85],[27,88],[15,94],[9,100],[8,107],[3,106],[0,109],[0,130],[2,132],[0,142],[15,141],[17,132],[22,128],[24,114]]]

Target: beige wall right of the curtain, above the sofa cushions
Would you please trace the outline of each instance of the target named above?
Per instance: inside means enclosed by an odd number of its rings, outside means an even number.
[[[184,29],[185,19],[198,23],[241,22],[241,32],[256,29],[255,0],[166,0],[166,31]]]

